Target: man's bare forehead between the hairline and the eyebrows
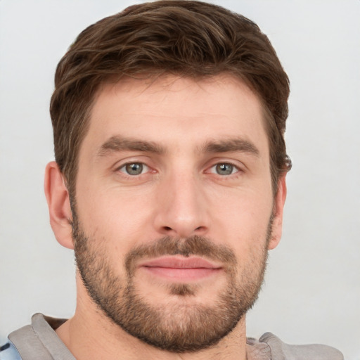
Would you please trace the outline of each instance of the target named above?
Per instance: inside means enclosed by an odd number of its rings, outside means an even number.
[[[84,143],[96,147],[122,136],[181,148],[190,142],[195,146],[242,136],[267,148],[263,118],[258,97],[230,75],[200,80],[124,78],[98,90]]]

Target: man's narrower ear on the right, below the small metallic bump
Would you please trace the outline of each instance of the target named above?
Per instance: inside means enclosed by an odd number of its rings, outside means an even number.
[[[283,210],[286,199],[286,174],[281,175],[278,179],[278,191],[274,198],[274,222],[271,230],[271,238],[269,240],[268,248],[272,250],[280,243],[281,235],[283,233]]]

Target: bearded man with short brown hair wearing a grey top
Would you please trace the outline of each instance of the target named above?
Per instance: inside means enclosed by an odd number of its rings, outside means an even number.
[[[77,309],[34,315],[0,354],[342,359],[246,338],[290,169],[288,77],[257,25],[195,1],[132,6],[84,30],[55,82],[45,193]]]

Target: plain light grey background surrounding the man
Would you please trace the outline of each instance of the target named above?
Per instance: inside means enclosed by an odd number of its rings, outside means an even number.
[[[132,4],[0,0],[0,340],[41,311],[71,316],[72,252],[49,226],[49,98],[60,57],[87,25]],[[338,347],[360,359],[360,1],[217,1],[255,20],[291,80],[281,245],[248,335]]]

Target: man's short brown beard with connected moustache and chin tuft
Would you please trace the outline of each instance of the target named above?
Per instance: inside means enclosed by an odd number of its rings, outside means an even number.
[[[135,338],[158,349],[183,353],[216,345],[255,303],[264,279],[271,225],[272,218],[261,250],[254,250],[244,264],[238,264],[233,250],[208,238],[165,237],[128,252],[124,258],[124,278],[115,274],[111,257],[100,239],[86,236],[74,211],[72,237],[79,274],[98,309]],[[136,264],[141,259],[163,255],[195,255],[221,262],[226,286],[211,306],[188,301],[195,300],[198,291],[198,285],[191,283],[167,286],[167,293],[177,301],[150,304],[136,286]]]

